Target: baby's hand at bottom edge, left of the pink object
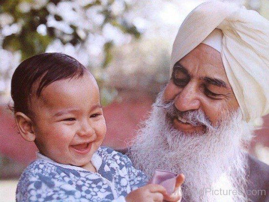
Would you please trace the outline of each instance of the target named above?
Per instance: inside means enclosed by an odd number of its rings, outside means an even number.
[[[126,197],[126,202],[162,202],[166,195],[166,190],[159,184],[148,184],[142,186]]]

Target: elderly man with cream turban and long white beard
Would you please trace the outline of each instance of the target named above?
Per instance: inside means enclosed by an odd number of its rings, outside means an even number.
[[[269,166],[247,154],[268,113],[269,22],[208,1],[180,26],[171,79],[128,155],[149,176],[183,173],[184,202],[269,202]]]

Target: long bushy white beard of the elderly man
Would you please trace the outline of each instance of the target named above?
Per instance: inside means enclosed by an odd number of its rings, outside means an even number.
[[[167,111],[159,107],[163,105],[162,94],[128,152],[134,167],[149,177],[155,169],[183,173],[186,202],[247,201],[248,166],[242,145],[249,143],[252,129],[242,120],[241,112],[226,115],[230,118],[221,121],[215,130],[184,134],[167,121]],[[232,190],[240,194],[233,195]]]

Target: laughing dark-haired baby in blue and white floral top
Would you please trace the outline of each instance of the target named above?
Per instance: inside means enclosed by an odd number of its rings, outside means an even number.
[[[11,95],[23,139],[39,150],[19,180],[18,202],[175,202],[163,186],[147,184],[130,159],[100,147],[106,123],[89,70],[62,53],[24,60]],[[177,187],[183,181],[179,175]],[[139,188],[140,187],[140,188]]]

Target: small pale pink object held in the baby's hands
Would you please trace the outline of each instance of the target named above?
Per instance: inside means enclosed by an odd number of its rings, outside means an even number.
[[[155,170],[152,179],[149,181],[149,184],[159,184],[162,185],[168,195],[171,195],[174,192],[176,186],[176,180],[178,175],[165,170]]]

